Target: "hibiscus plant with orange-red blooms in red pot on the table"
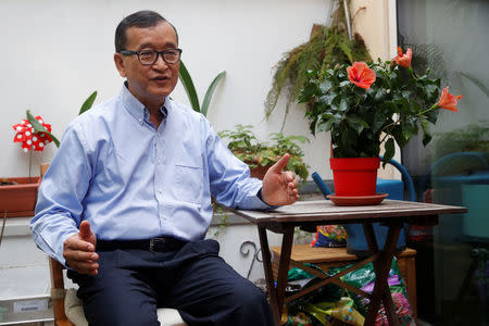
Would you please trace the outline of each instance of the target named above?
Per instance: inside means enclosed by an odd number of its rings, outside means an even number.
[[[337,197],[377,196],[380,146],[386,164],[394,155],[394,141],[403,148],[421,128],[426,146],[439,109],[457,111],[461,96],[446,87],[440,97],[440,79],[430,78],[429,71],[422,76],[413,71],[411,49],[398,52],[391,61],[308,72],[299,100],[310,104],[305,115],[312,134],[331,134],[329,162]]]

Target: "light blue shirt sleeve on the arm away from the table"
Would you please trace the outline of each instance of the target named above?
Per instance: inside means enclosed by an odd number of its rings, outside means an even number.
[[[63,242],[78,233],[82,201],[91,175],[89,166],[83,137],[72,124],[42,178],[30,221],[36,244],[63,265]]]

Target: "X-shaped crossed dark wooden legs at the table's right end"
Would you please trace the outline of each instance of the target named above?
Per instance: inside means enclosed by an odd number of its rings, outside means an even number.
[[[392,264],[392,258],[396,252],[396,246],[398,242],[399,234],[401,231],[401,227],[402,224],[389,226],[389,233],[387,235],[385,248],[380,251],[379,259],[374,261],[376,278],[374,291],[372,292],[372,300],[368,304],[368,313],[365,318],[366,326],[375,324],[375,318],[379,311],[380,302],[384,303],[389,325],[400,325],[399,319],[396,315],[396,308],[392,301],[387,279],[389,276],[390,266]],[[379,250],[377,240],[375,239],[375,233],[372,224],[364,223],[363,228],[371,252],[378,252]]]

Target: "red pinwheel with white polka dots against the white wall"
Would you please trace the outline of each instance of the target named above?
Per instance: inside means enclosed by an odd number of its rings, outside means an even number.
[[[51,133],[51,125],[42,121],[39,115],[36,120]],[[12,128],[16,131],[14,142],[22,142],[24,152],[30,149],[42,151],[45,146],[52,141],[51,137],[46,133],[37,133],[28,120],[23,120],[20,124],[13,125]]]

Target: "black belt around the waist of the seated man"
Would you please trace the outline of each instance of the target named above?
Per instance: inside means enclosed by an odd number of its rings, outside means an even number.
[[[187,241],[172,238],[160,237],[145,240],[97,240],[97,251],[111,251],[117,249],[140,249],[151,252],[164,252],[178,250]]]

